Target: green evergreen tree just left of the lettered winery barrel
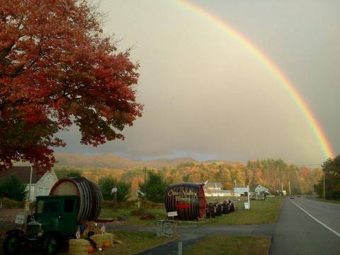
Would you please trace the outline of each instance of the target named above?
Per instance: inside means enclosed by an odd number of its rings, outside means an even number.
[[[148,177],[145,183],[140,183],[140,191],[145,193],[145,198],[149,201],[155,203],[164,202],[168,183],[164,181],[161,174],[153,173],[152,171],[149,171]]]

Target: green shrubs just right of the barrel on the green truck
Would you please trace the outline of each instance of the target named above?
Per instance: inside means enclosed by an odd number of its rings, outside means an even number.
[[[112,188],[117,188],[117,201],[124,202],[129,198],[130,184],[124,181],[117,181],[111,176],[102,177],[99,179],[99,187],[103,194],[104,200],[113,200]]]

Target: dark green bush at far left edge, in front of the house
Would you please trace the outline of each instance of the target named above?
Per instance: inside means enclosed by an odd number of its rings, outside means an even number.
[[[26,184],[16,176],[9,176],[0,182],[0,198],[10,198],[16,201],[22,201],[26,196]]]

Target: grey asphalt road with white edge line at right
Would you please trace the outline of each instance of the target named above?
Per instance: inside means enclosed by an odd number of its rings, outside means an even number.
[[[339,244],[339,204],[285,198],[270,254],[340,254]]]

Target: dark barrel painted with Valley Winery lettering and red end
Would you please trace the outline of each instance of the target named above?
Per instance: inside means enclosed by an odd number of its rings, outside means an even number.
[[[203,184],[172,184],[166,189],[166,212],[177,212],[176,220],[198,220],[205,215]]]

